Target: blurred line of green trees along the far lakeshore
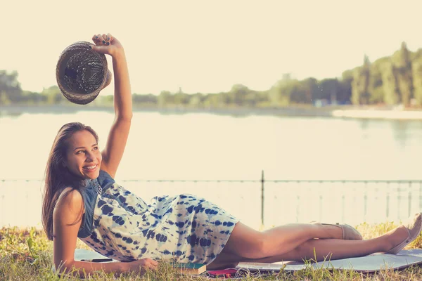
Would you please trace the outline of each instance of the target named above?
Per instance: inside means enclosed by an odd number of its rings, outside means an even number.
[[[304,65],[304,67],[306,67]],[[284,74],[266,91],[255,91],[235,84],[227,92],[176,93],[162,91],[159,95],[133,95],[136,107],[287,107],[295,105],[422,105],[422,49],[411,52],[403,42],[390,56],[373,63],[365,55],[362,65],[346,70],[341,77],[317,80],[294,79]],[[0,70],[0,105],[56,105],[69,103],[58,86],[41,93],[24,91],[18,72]],[[110,106],[113,96],[98,96],[91,105]]]

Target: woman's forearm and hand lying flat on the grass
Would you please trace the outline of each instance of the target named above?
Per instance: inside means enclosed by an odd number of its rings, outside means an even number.
[[[73,261],[58,268],[60,273],[73,273],[79,277],[87,277],[92,275],[97,270],[103,270],[104,273],[124,273],[128,270],[127,263],[91,263],[89,261]]]

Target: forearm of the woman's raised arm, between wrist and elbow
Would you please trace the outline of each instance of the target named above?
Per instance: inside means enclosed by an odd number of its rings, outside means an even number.
[[[132,119],[132,91],[124,49],[120,48],[112,58],[115,77],[115,114],[117,118]]]

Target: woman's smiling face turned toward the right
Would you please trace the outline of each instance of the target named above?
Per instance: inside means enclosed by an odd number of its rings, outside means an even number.
[[[69,171],[84,179],[98,178],[103,158],[92,133],[86,130],[77,131],[68,144],[65,166]]]

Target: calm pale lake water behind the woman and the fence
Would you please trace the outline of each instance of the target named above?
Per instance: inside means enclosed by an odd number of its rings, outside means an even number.
[[[0,181],[0,226],[38,223],[41,182],[11,180],[41,179],[56,132],[63,124],[75,121],[92,126],[103,147],[113,115],[77,112],[0,117],[0,179],[7,180]],[[422,179],[422,122],[419,121],[135,112],[131,130],[116,181],[258,180],[262,170],[268,179]],[[146,201],[154,195],[191,192],[210,198],[253,226],[260,219],[257,183],[131,181],[125,185]],[[315,214],[340,219],[333,217],[330,206],[323,211],[312,211],[309,200],[298,200],[298,204],[304,204],[299,211],[294,206],[286,207],[292,203],[286,198],[290,195],[297,198],[295,194],[301,188],[284,188],[281,194],[277,193],[280,189],[276,190],[268,195],[266,205],[266,219],[270,223],[297,220],[305,213],[309,216],[302,216],[302,221]],[[321,194],[315,188],[309,190],[314,190],[315,196]],[[300,192],[309,195],[309,190],[302,188]],[[277,203],[282,198],[283,204]],[[12,216],[8,210],[18,204],[25,205],[25,211]],[[329,204],[329,200],[324,204]],[[347,213],[343,218],[350,221],[354,217]]]

